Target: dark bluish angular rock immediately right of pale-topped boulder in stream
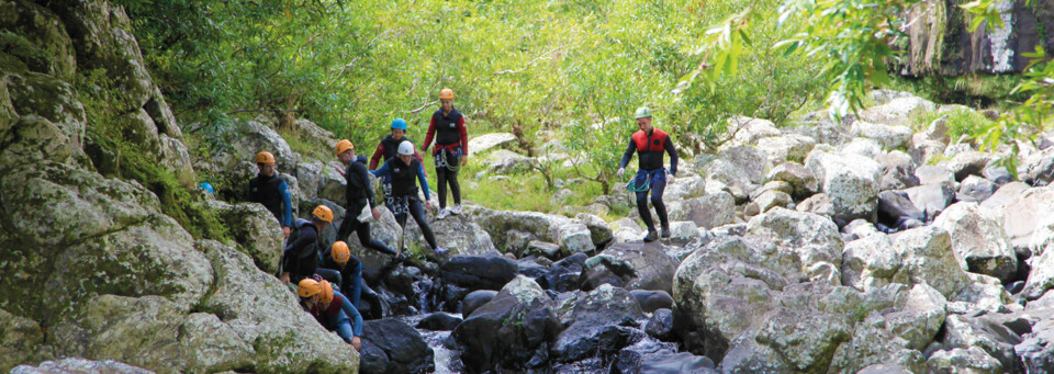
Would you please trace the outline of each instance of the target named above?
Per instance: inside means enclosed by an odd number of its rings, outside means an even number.
[[[605,284],[575,304],[571,326],[552,345],[553,359],[573,362],[592,355],[612,356],[643,339],[640,330],[626,327],[642,317],[629,291]]]

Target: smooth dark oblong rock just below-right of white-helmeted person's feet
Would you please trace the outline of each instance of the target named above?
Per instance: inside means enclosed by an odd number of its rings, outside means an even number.
[[[455,256],[439,267],[439,277],[469,290],[501,290],[516,276],[516,262],[497,256]]]

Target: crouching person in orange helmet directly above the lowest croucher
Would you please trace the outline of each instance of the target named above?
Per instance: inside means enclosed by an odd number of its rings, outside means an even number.
[[[406,256],[399,253],[395,259],[396,261],[403,261],[406,259]],[[340,293],[348,296],[351,305],[356,308],[359,307],[362,294],[365,293],[371,301],[371,314],[377,315],[381,311],[381,306],[377,303],[379,302],[379,296],[373,293],[368,285],[362,283],[362,261],[351,256],[351,250],[348,248],[347,242],[334,242],[333,246],[329,247],[329,250],[323,253],[322,264],[318,265],[315,273],[322,275],[322,277],[329,281],[329,283],[336,284]],[[380,317],[378,316],[378,318]]]

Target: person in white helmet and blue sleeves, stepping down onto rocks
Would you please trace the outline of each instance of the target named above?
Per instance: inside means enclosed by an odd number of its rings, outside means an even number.
[[[436,235],[428,226],[425,219],[425,211],[421,206],[421,200],[417,199],[417,184],[414,179],[421,181],[421,189],[425,193],[425,206],[431,209],[431,201],[428,192],[428,180],[425,178],[425,168],[421,161],[414,158],[414,144],[403,141],[399,144],[399,157],[384,162],[380,169],[371,170],[377,177],[392,178],[392,196],[395,199],[395,219],[399,225],[405,227],[406,214],[414,216],[421,233],[425,235],[425,241],[431,247],[436,254],[445,254],[447,250],[436,243]]]

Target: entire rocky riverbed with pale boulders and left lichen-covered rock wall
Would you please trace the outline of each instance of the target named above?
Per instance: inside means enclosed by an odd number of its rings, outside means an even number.
[[[0,1],[0,29],[54,57],[0,50],[0,370],[1054,372],[1054,136],[983,152],[948,135],[950,116],[912,123],[969,109],[893,91],[840,123],[735,120],[735,138],[685,158],[668,188],[664,242],[640,241],[635,211],[593,214],[630,206],[621,191],[561,212],[467,204],[434,224],[450,254],[404,264],[352,240],[380,295],[356,352],[271,275],[282,240],[266,209],[201,192],[235,242],[195,240],[153,186],[113,175],[121,157],[87,132],[78,69],[126,88],[121,126],[158,165],[248,180],[267,149],[300,212],[345,217],[329,160],[293,151],[267,117],[191,159],[193,125],[176,124],[128,24],[105,2]],[[491,167],[467,179],[537,162],[505,149],[508,134],[476,140]],[[374,236],[399,233],[385,212]],[[408,224],[425,247],[418,233]]]

